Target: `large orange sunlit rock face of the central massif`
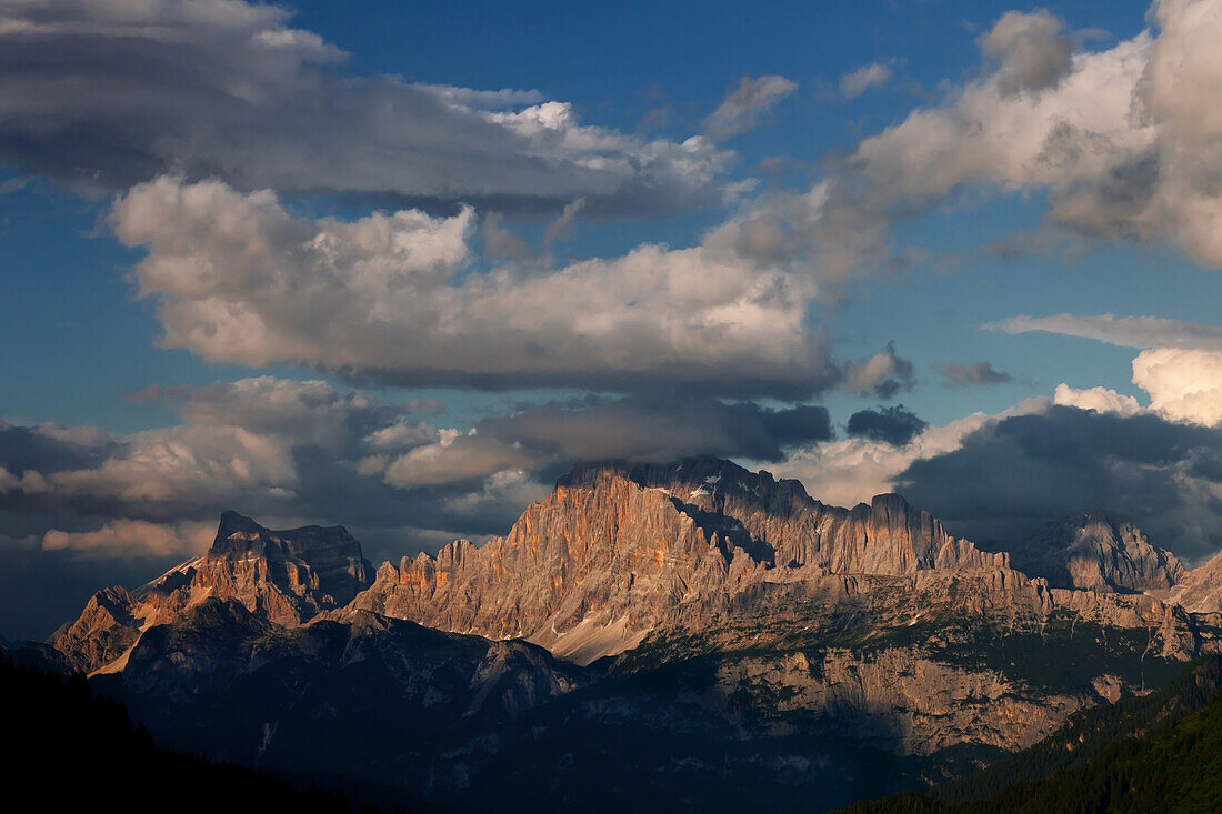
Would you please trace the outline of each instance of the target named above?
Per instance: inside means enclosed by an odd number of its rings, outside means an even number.
[[[384,565],[356,607],[490,638],[523,637],[579,664],[634,647],[689,609],[756,583],[824,573],[1007,566],[898,495],[853,510],[728,461],[576,468],[510,534]]]

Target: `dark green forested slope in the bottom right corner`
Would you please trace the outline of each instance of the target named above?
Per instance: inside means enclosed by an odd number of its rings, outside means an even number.
[[[930,796],[843,814],[1222,810],[1222,658],[1165,689],[1079,713],[1055,735]]]

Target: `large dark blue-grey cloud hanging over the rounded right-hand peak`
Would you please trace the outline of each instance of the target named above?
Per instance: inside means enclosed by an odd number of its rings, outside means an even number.
[[[1045,521],[1106,508],[1193,559],[1222,548],[1220,455],[1216,428],[1055,406],[990,422],[896,485],[969,539],[1020,540]]]

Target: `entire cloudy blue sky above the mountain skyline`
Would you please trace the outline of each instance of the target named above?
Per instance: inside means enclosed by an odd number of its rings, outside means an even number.
[[[0,633],[730,457],[1222,549],[1222,0],[0,0]]]

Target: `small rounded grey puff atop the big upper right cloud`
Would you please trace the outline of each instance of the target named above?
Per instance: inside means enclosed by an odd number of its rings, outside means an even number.
[[[1003,94],[1055,88],[1073,67],[1073,39],[1062,35],[1061,21],[1044,10],[1007,11],[980,38],[980,49],[1001,62],[997,88]]]

